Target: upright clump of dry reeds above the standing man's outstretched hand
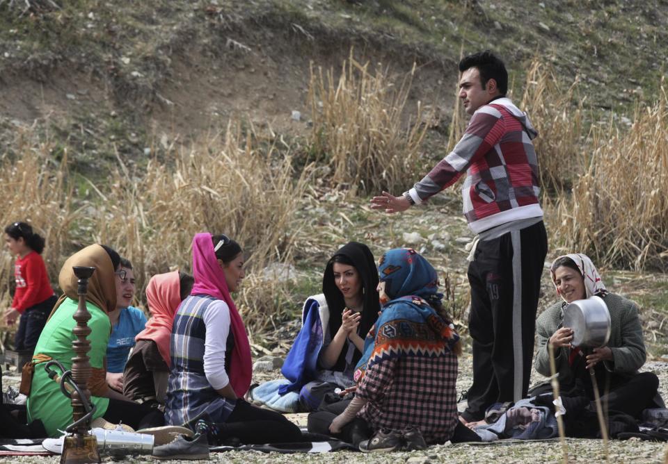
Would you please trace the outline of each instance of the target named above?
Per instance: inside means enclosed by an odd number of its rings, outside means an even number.
[[[427,134],[422,106],[417,105],[413,124],[402,121],[411,90],[415,65],[397,86],[379,64],[353,58],[344,61],[339,78],[334,69],[310,67],[308,104],[313,128],[312,151],[333,169],[332,181],[351,192],[365,193],[405,187]]]

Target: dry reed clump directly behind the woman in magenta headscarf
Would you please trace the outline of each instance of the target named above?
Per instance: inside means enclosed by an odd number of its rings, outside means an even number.
[[[107,201],[93,219],[95,241],[132,260],[143,288],[153,274],[175,267],[189,272],[195,233],[229,235],[248,257],[239,310],[249,333],[259,333],[288,300],[285,275],[262,270],[271,263],[289,268],[299,229],[292,220],[309,172],[306,167],[295,179],[289,156],[278,156],[273,144],[230,122],[191,151],[150,160],[143,177],[133,178],[119,159],[113,188],[104,192]]]

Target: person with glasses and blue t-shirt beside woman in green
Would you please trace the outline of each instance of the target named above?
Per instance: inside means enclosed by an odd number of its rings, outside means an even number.
[[[125,272],[125,277],[116,288],[116,309],[109,313],[111,335],[106,348],[106,383],[118,392],[123,391],[123,370],[134,347],[134,338],[146,325],[143,310],[130,306],[136,290],[132,263],[120,258],[120,270]]]

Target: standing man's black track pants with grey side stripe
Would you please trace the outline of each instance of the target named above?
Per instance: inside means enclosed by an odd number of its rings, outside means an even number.
[[[547,251],[542,221],[478,242],[468,267],[473,385],[466,420],[480,420],[491,404],[527,394]]]

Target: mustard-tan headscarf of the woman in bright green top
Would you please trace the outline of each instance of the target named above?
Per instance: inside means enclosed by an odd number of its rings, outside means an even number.
[[[56,306],[54,306],[49,315],[49,319],[56,313],[56,310],[63,304],[65,299],[79,299],[79,295],[77,295],[79,279],[77,279],[77,276],[74,275],[74,270],[72,270],[74,266],[95,267],[93,276],[90,276],[90,279],[88,279],[86,301],[94,304],[107,314],[114,310],[116,308],[116,281],[113,274],[115,271],[113,263],[111,263],[111,258],[109,258],[109,254],[107,254],[104,248],[100,245],[90,245],[77,251],[70,258],[67,258],[65,264],[63,264],[61,273],[58,274],[58,283],[61,285],[64,293],[58,298]],[[106,358],[102,369],[91,368],[88,389],[91,395],[95,395],[96,397],[106,396],[106,392],[109,390],[109,386],[106,384]]]

